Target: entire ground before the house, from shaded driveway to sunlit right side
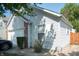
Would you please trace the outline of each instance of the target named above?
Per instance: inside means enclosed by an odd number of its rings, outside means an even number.
[[[56,51],[55,53],[49,53],[48,50],[43,50],[41,53],[35,53],[33,48],[13,48],[4,53],[6,56],[79,56],[79,45],[65,47],[62,51]]]

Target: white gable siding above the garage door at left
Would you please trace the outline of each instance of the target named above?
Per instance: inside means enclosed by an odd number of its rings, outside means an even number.
[[[14,16],[8,26],[8,30],[16,30],[16,29],[20,29],[20,28],[24,28],[24,21],[22,20],[21,17]]]

